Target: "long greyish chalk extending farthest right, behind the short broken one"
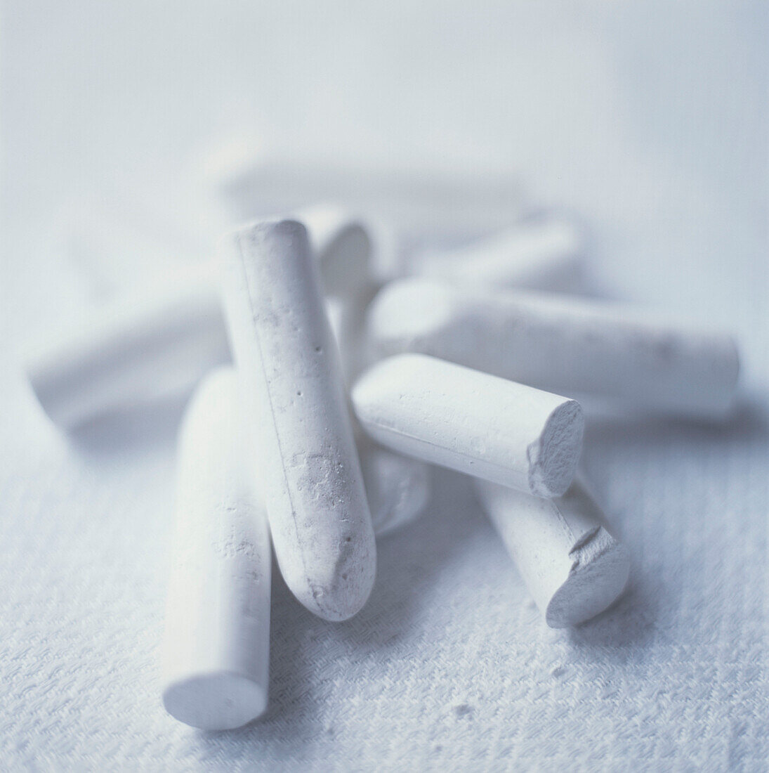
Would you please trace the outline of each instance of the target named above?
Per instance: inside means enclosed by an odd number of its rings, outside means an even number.
[[[377,295],[380,356],[422,352],[521,383],[631,406],[718,417],[739,359],[729,335],[621,305],[413,278]]]

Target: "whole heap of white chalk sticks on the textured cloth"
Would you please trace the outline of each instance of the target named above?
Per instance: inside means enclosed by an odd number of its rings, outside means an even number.
[[[375,535],[425,509],[441,465],[471,476],[547,625],[577,625],[621,595],[630,562],[575,478],[573,397],[703,418],[732,405],[728,335],[553,293],[579,271],[567,220],[413,254],[386,278],[374,233],[335,206],[243,226],[216,265],[29,363],[68,430],[196,387],[162,692],[192,726],[267,706],[271,546],[301,604],[350,618],[372,591]]]

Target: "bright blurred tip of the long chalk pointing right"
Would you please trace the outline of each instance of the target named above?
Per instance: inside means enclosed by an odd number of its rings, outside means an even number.
[[[369,308],[369,331],[383,352],[408,351],[422,336],[454,321],[454,291],[441,280],[414,277],[386,285]]]

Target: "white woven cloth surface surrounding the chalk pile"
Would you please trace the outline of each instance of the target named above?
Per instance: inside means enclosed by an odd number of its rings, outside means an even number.
[[[445,3],[329,3],[306,24],[294,5],[6,3],[0,768],[765,771],[761,7],[458,3],[437,29]],[[470,487],[438,472],[424,518],[379,543],[356,618],[325,623],[274,582],[264,721],[205,734],[165,714],[181,407],[67,446],[22,381],[23,338],[97,302],[46,247],[46,214],[148,180],[178,200],[199,141],[239,121],[310,149],[321,128],[351,151],[386,137],[407,162],[494,152],[587,216],[609,294],[737,333],[729,424],[587,418],[585,472],[633,560],[615,608],[547,628]]]

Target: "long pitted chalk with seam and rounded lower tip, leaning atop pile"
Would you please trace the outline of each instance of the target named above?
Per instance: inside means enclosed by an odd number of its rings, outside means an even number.
[[[234,233],[224,258],[227,325],[277,561],[302,604],[344,620],[369,597],[376,547],[307,231],[259,223]]]

